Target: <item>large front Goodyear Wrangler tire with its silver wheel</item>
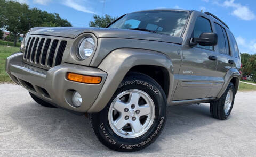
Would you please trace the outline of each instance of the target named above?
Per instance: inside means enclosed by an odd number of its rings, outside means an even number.
[[[167,100],[151,77],[130,73],[107,106],[90,115],[94,133],[116,151],[138,151],[155,141],[166,121]]]

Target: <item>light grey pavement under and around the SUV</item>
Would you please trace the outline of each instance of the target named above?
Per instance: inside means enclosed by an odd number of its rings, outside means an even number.
[[[238,92],[227,120],[209,104],[167,109],[161,136],[138,152],[103,146],[85,116],[39,106],[18,85],[0,84],[0,156],[256,156],[256,91]]]

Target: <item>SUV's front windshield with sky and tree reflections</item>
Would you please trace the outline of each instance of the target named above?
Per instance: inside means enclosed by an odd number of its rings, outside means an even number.
[[[142,11],[130,13],[108,28],[134,29],[180,37],[188,20],[187,11]]]

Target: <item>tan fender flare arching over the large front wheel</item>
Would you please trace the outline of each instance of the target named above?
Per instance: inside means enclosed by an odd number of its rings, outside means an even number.
[[[108,101],[118,88],[118,85],[124,79],[125,75],[132,67],[137,65],[155,65],[167,69],[170,79],[168,95],[168,98],[170,99],[174,83],[174,72],[171,59],[168,58],[167,55],[158,53],[156,51],[122,48],[112,51],[98,66],[99,69],[107,72],[107,79],[102,86],[97,99],[87,112],[100,112],[103,108],[105,108]]]

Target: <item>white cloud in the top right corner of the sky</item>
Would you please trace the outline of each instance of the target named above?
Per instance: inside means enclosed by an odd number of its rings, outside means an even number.
[[[249,7],[243,6],[240,3],[235,3],[235,0],[226,0],[223,3],[213,1],[213,3],[226,8],[233,8],[231,15],[237,16],[239,19],[250,21],[256,18],[255,14]]]

